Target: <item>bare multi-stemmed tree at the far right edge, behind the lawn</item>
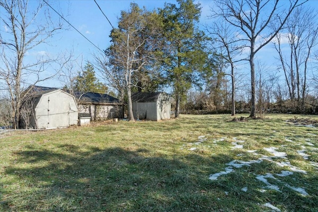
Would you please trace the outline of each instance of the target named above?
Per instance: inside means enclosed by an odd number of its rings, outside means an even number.
[[[308,63],[312,49],[317,45],[317,12],[313,9],[298,7],[286,22],[286,32],[276,35],[275,49],[279,54],[284,71],[289,97],[296,100],[297,108],[305,110]],[[286,38],[289,51],[282,51],[282,40]],[[288,55],[286,57],[286,55]]]

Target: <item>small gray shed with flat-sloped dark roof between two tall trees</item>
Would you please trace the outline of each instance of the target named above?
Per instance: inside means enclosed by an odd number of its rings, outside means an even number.
[[[170,96],[165,92],[132,93],[133,113],[135,119],[159,121],[170,119]]]

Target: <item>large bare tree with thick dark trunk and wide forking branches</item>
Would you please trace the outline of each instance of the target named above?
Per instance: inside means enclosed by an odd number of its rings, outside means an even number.
[[[256,53],[267,45],[283,28],[291,12],[302,3],[291,0],[279,5],[279,0],[216,0],[217,10],[212,17],[220,17],[234,27],[241,42],[249,50],[245,58],[249,62],[251,74],[251,111],[255,117],[255,65]],[[222,21],[221,21],[222,22]]]

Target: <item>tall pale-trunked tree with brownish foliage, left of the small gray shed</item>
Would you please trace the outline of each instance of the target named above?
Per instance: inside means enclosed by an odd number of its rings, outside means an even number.
[[[134,84],[133,75],[146,67],[156,64],[156,52],[159,43],[159,15],[156,12],[141,9],[136,3],[131,3],[129,11],[122,11],[118,21],[118,28],[111,32],[111,46],[105,51],[108,56],[109,71],[118,71],[123,74],[124,88],[126,90],[128,102],[128,119],[135,121],[131,92]],[[105,73],[106,75],[108,73]],[[121,77],[117,77],[118,82],[122,82]]]

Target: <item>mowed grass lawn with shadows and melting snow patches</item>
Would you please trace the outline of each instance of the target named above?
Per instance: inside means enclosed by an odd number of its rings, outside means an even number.
[[[0,211],[317,212],[318,128],[293,118],[1,133]]]

